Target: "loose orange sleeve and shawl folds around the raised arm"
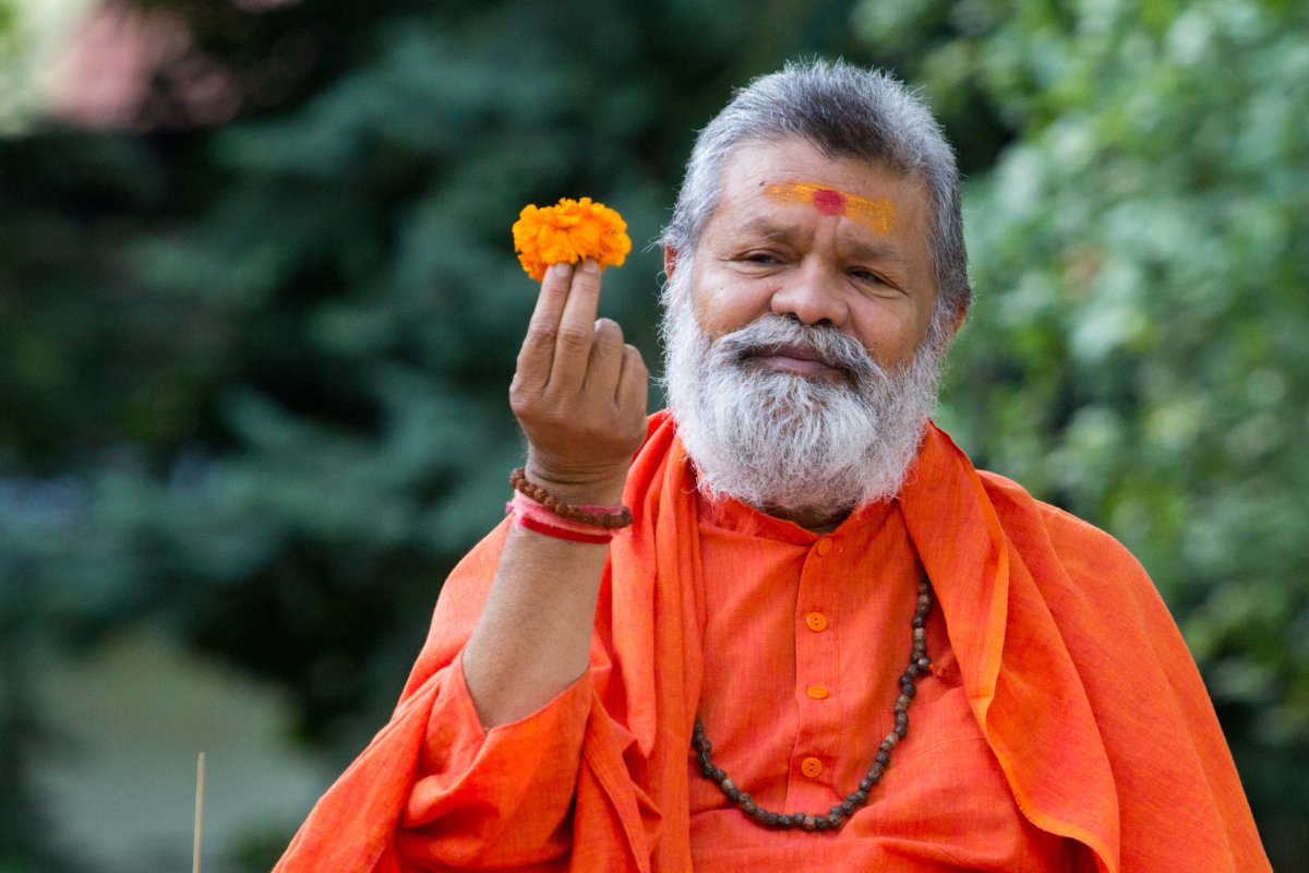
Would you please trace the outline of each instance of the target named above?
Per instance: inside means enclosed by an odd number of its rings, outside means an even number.
[[[463,682],[504,525],[450,573],[390,721],[319,798],[274,873],[556,870],[573,851],[592,673],[487,732]]]

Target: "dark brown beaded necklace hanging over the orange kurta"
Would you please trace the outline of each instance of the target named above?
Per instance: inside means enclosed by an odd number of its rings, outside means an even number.
[[[927,654],[927,614],[932,609],[932,588],[928,585],[927,579],[923,579],[918,584],[918,609],[914,610],[914,647],[910,650],[908,666],[899,678],[899,696],[895,698],[895,705],[891,708],[895,716],[895,728],[886,734],[881,745],[877,747],[877,755],[873,758],[873,766],[868,768],[868,774],[859,780],[859,788],[852,791],[846,796],[840,804],[833,806],[822,815],[812,815],[808,813],[774,813],[763,806],[754,802],[754,798],[749,793],[737,788],[737,784],[728,779],[728,775],[723,772],[720,767],[713,764],[709,753],[713,750],[713,745],[704,736],[704,725],[700,722],[700,716],[695,716],[695,730],[691,734],[691,746],[695,749],[696,757],[700,762],[700,774],[706,779],[717,784],[729,801],[741,808],[741,811],[753,818],[755,822],[764,827],[774,827],[778,830],[791,830],[801,828],[805,831],[829,831],[836,830],[844,825],[846,819],[855,814],[855,810],[864,806],[868,802],[868,792],[873,789],[873,785],[881,781],[882,774],[886,772],[886,767],[891,763],[891,750],[905,738],[908,733],[908,704],[914,700],[914,695],[918,694],[918,679],[923,674],[932,669],[932,658]]]

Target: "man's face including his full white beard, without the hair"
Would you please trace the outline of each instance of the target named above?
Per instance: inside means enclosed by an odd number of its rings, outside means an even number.
[[[826,527],[899,491],[936,401],[927,205],[802,141],[737,149],[724,183],[669,268],[669,407],[702,490]]]

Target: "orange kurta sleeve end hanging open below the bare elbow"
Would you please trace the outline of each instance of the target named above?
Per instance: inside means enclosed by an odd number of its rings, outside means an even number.
[[[395,831],[401,857],[423,870],[548,866],[565,857],[590,673],[490,732],[469,696],[462,653],[431,681],[441,688]]]

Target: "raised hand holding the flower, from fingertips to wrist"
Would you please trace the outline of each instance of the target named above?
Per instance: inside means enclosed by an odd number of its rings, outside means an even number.
[[[649,374],[618,323],[597,321],[600,279],[589,259],[546,271],[509,387],[528,479],[564,503],[619,503],[645,437]]]

